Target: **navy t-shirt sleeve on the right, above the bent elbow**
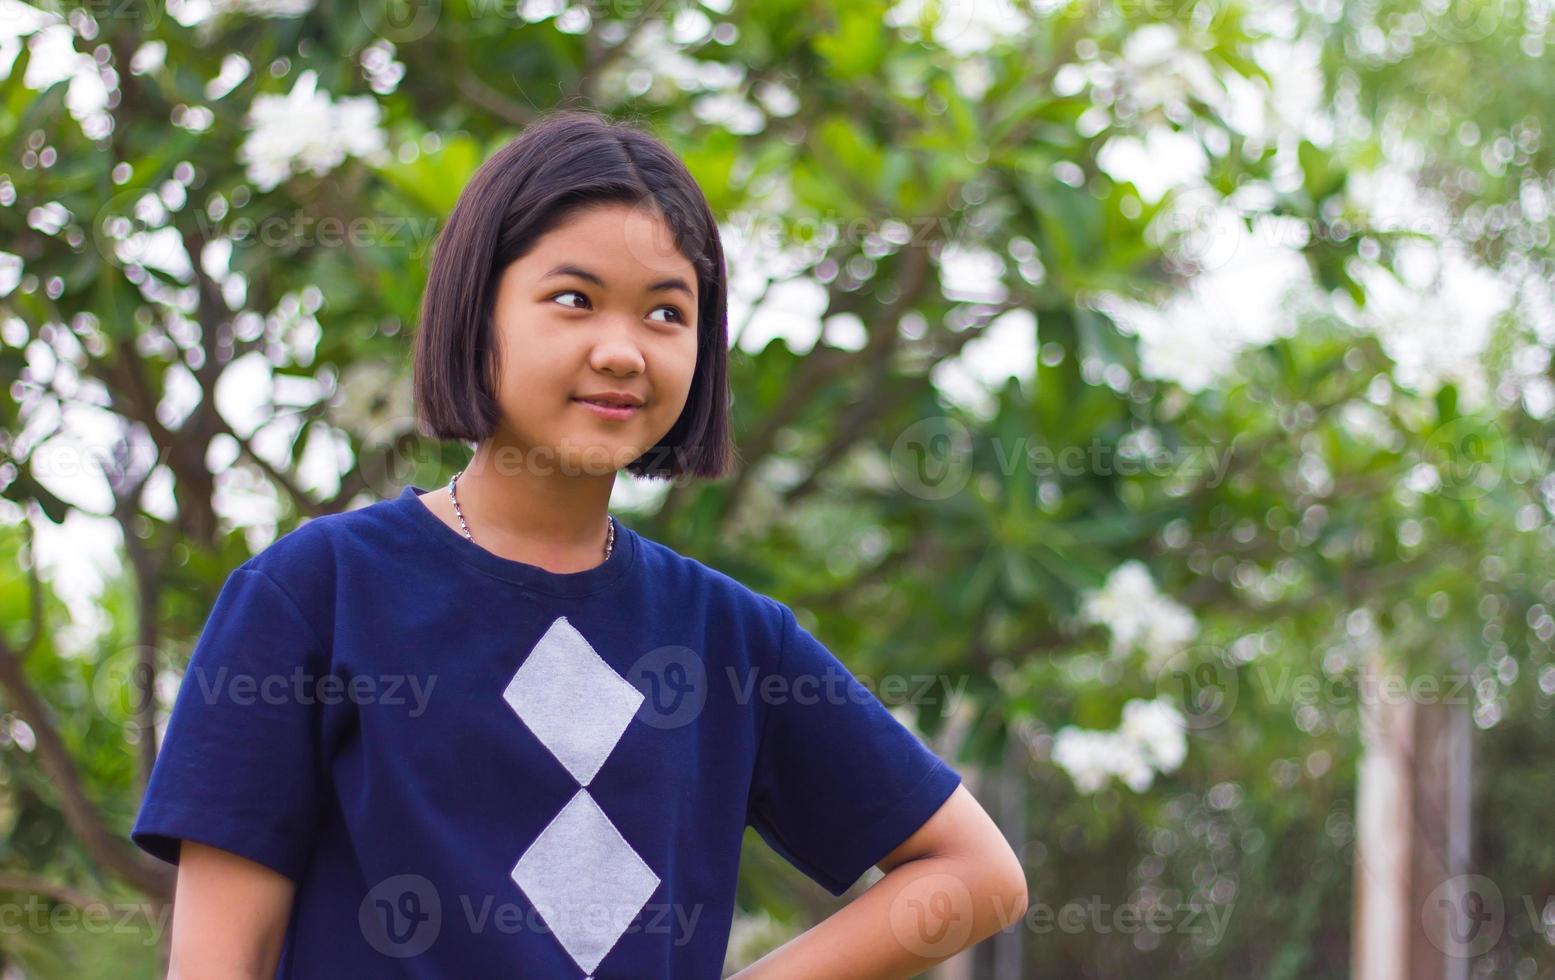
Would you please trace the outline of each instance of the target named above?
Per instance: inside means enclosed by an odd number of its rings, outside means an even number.
[[[928,820],[961,775],[782,610],[746,821],[840,896]]]

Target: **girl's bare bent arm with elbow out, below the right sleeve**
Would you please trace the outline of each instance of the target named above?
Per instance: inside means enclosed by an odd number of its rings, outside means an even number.
[[[877,866],[863,894],[731,980],[905,980],[1026,910],[1025,870],[964,786]]]

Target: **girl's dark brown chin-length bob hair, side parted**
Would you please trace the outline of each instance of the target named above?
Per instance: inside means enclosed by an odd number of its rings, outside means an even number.
[[[594,110],[550,112],[476,170],[437,235],[415,339],[425,434],[479,443],[501,418],[491,324],[502,271],[574,212],[652,207],[697,271],[697,370],[686,409],[634,476],[718,478],[732,462],[729,302],[718,226],[686,165],[656,137]]]

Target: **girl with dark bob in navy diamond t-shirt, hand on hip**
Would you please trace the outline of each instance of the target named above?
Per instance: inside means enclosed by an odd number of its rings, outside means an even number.
[[[910,977],[1014,922],[959,775],[782,602],[608,513],[729,459],[718,229],[656,138],[558,112],[462,191],[415,347],[446,487],[227,579],[131,832],[174,977],[714,978],[746,826],[833,896],[740,977]]]

